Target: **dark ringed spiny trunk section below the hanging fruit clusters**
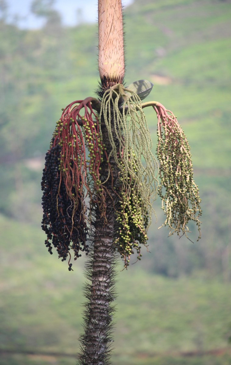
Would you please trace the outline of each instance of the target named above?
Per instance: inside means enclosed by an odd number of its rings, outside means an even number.
[[[81,338],[82,354],[80,364],[109,364],[111,345],[111,320],[114,300],[113,285],[114,253],[112,250],[113,227],[107,226],[101,233],[101,222],[98,217],[95,223],[95,242],[92,262],[87,265],[91,273],[91,285],[86,289],[89,302],[86,305],[85,334]],[[87,275],[89,273],[87,272]]]

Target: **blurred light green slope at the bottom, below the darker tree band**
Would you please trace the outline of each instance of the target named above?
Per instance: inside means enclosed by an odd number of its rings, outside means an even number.
[[[74,364],[83,261],[70,273],[44,254],[39,228],[0,216],[0,229],[1,365]],[[230,364],[230,283],[205,272],[176,280],[121,269],[113,364]]]

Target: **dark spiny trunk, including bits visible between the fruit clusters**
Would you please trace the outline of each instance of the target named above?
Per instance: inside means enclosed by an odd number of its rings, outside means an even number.
[[[103,141],[110,151],[107,131],[103,130]],[[102,163],[102,181],[108,173],[108,164]],[[113,158],[110,159],[113,168],[113,186],[117,183],[117,168]],[[92,237],[91,258],[86,265],[86,277],[90,284],[86,285],[85,296],[88,302],[85,304],[84,330],[81,336],[82,353],[79,357],[81,365],[105,365],[110,364],[111,321],[115,299],[114,293],[114,266],[115,250],[113,247],[113,233],[115,230],[115,208],[117,195],[112,189],[112,176],[104,184],[107,188],[106,219],[101,217],[99,207],[95,207],[94,236]]]

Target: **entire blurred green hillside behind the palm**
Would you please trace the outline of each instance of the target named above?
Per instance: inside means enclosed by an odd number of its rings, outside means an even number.
[[[126,84],[152,81],[148,100],[178,116],[191,146],[203,215],[199,242],[194,227],[194,243],[168,238],[167,229],[158,230],[163,216],[155,202],[151,253],[143,252],[128,271],[118,266],[113,364],[231,364],[230,18],[230,1],[136,0],[125,9]],[[84,260],[75,261],[70,273],[47,252],[40,181],[61,108],[94,95],[98,79],[96,24],[64,28],[58,14],[48,11],[41,30],[20,30],[2,16],[3,365],[75,363]],[[155,152],[156,118],[145,114]],[[209,352],[214,349],[224,350]]]

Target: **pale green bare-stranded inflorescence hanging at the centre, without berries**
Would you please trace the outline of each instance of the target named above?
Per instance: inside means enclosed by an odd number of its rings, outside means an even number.
[[[100,114],[103,115],[111,146],[108,157],[113,157],[119,169],[121,189],[126,191],[128,201],[131,196],[141,197],[137,210],[141,205],[148,211],[150,224],[152,202],[156,199],[158,187],[158,162],[151,151],[151,136],[140,98],[135,92],[117,84],[103,95]]]

